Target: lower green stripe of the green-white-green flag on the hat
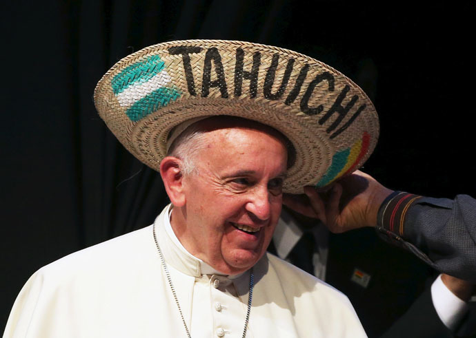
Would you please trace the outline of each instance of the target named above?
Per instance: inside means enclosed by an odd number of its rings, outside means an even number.
[[[181,92],[178,88],[160,87],[134,103],[126,110],[126,115],[132,122],[137,122],[160,107],[165,107],[170,101],[177,100],[180,96]]]

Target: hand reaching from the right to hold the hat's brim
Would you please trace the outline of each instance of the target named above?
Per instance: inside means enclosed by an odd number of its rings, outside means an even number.
[[[305,195],[284,194],[283,203],[307,217],[318,218],[333,233],[377,225],[377,212],[393,193],[372,176],[355,171],[327,189],[304,187]]]

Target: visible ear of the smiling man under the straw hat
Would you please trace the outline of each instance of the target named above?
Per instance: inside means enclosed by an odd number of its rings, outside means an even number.
[[[173,156],[167,156],[160,162],[160,176],[175,207],[184,207],[186,202],[181,165],[181,160]]]

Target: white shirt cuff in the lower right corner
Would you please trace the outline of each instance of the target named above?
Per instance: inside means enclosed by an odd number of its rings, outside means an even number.
[[[442,281],[442,275],[439,275],[431,285],[431,299],[439,319],[451,330],[456,328],[468,310],[468,304],[446,287]]]

